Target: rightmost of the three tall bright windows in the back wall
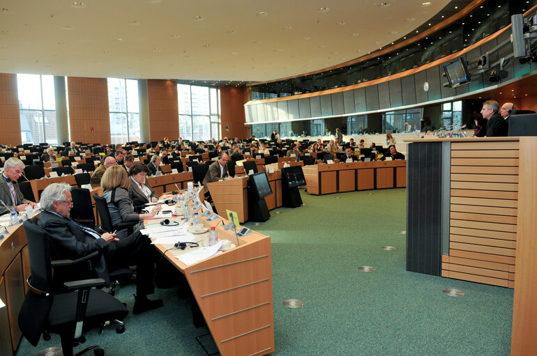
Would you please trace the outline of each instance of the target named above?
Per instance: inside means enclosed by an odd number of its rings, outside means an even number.
[[[177,84],[179,136],[190,141],[220,139],[220,97],[216,88]]]

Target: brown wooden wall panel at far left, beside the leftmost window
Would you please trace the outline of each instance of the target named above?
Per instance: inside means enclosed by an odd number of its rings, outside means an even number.
[[[22,144],[17,75],[0,73],[0,142],[10,146]]]

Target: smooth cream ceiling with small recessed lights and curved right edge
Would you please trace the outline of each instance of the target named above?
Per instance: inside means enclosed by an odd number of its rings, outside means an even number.
[[[0,0],[0,72],[278,79],[388,45],[449,2],[425,1]]]

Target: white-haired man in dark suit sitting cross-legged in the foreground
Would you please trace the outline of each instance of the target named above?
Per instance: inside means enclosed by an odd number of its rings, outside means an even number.
[[[134,314],[162,307],[162,300],[149,300],[147,295],[154,293],[151,241],[139,231],[119,240],[115,233],[97,233],[86,226],[77,224],[69,218],[73,207],[70,185],[52,183],[41,194],[43,212],[38,224],[47,231],[50,238],[53,258],[75,259],[100,252],[96,265],[98,277],[108,281],[108,269],[136,265],[136,293]]]

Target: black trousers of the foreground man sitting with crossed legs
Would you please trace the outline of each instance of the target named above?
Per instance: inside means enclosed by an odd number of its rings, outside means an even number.
[[[103,251],[109,271],[136,265],[136,293],[139,296],[155,292],[153,276],[156,254],[151,240],[139,231],[110,243]]]

